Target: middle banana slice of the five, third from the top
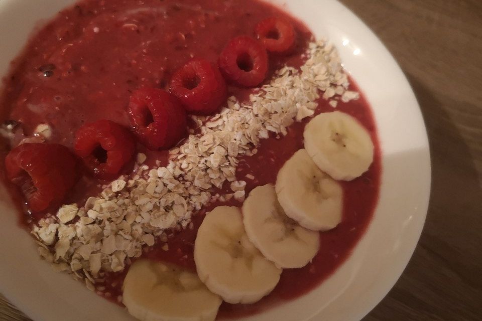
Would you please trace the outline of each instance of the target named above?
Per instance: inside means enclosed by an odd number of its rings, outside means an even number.
[[[320,247],[320,234],[286,216],[272,184],[251,191],[243,203],[243,223],[253,244],[280,268],[308,264]]]

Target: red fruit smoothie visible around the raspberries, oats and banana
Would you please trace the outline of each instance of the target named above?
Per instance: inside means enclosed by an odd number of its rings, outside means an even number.
[[[269,17],[290,21],[297,31],[297,45],[289,56],[270,56],[270,72],[284,64],[299,67],[302,53],[312,40],[309,30],[280,9],[258,0],[87,0],[60,12],[30,40],[25,51],[4,80],[5,92],[0,98],[0,120],[20,121],[27,135],[39,123],[53,128],[49,142],[72,148],[75,131],[87,122],[109,119],[129,126],[126,113],[131,93],[144,86],[167,89],[174,71],[193,57],[216,62],[230,39],[239,35],[253,36],[254,28]],[[215,35],[215,37],[213,37]],[[357,90],[351,81],[351,90]],[[246,99],[250,89],[228,87],[230,95]],[[317,112],[332,111],[320,99]],[[364,234],[376,208],[381,178],[381,152],[374,118],[362,97],[338,104],[337,110],[349,113],[371,132],[375,158],[369,171],[351,182],[343,182],[343,221],[335,229],[321,233],[320,251],[313,262],[300,269],[285,269],[271,294],[255,304],[227,304],[220,307],[218,318],[234,318],[281,304],[318,286],[350,255]],[[305,123],[290,126],[281,139],[261,140],[258,153],[244,157],[237,169],[237,179],[246,180],[246,192],[258,185],[275,183],[278,170],[299,148],[303,147]],[[146,152],[139,146],[142,152]],[[6,143],[1,145],[2,176]],[[149,152],[148,164],[156,159],[166,161],[165,152]],[[247,174],[255,177],[246,179]],[[100,182],[103,183],[103,182]],[[80,204],[95,195],[99,182],[84,178],[68,198]],[[12,187],[13,198],[18,192]],[[195,228],[174,233],[169,250],[157,244],[143,256],[165,260],[195,270],[193,246],[196,231],[204,213],[218,204],[203,209],[194,218]],[[231,201],[223,205],[237,205]],[[20,207],[22,222],[31,217]],[[113,273],[105,286],[113,300],[122,293],[124,275]]]

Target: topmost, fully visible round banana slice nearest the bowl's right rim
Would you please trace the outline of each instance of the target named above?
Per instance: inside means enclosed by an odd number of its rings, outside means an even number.
[[[373,162],[373,142],[352,116],[321,113],[306,124],[305,149],[315,164],[335,180],[351,181],[367,172]]]

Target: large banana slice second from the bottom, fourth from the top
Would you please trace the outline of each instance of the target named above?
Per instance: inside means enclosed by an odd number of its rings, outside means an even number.
[[[206,215],[194,243],[200,279],[229,303],[253,303],[270,293],[281,269],[250,242],[237,207],[219,206]]]

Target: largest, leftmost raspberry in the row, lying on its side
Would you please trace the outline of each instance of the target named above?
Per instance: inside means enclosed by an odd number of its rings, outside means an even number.
[[[34,213],[59,206],[80,178],[77,158],[59,144],[25,143],[5,158],[8,179],[19,186]]]

